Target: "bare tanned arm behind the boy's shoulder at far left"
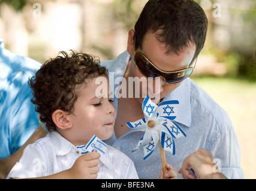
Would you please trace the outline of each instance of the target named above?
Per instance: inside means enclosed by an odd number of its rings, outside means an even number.
[[[17,152],[13,153],[13,155],[9,156],[8,158],[2,159],[0,161],[0,178],[6,178],[8,173],[11,171],[11,168],[16,164],[17,161],[22,157],[23,150],[25,149],[28,144],[34,143],[35,140],[39,138],[43,138],[46,136],[46,131],[39,125],[37,130],[29,137],[25,144],[20,147]]]

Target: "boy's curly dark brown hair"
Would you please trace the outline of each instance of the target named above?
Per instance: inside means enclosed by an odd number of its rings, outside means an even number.
[[[87,79],[97,76],[107,76],[100,59],[71,50],[70,55],[61,51],[56,58],[47,60],[29,79],[33,91],[31,102],[49,131],[56,131],[52,113],[57,109],[72,113],[79,88],[86,85]]]

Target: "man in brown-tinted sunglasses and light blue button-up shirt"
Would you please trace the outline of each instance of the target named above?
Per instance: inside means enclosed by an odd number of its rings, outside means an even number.
[[[176,155],[165,152],[167,163],[174,171],[180,170],[183,160],[191,153],[205,148],[220,159],[221,171],[227,178],[243,178],[239,143],[230,118],[187,78],[204,46],[206,32],[206,15],[194,1],[149,0],[135,30],[129,30],[127,51],[115,60],[101,63],[110,74],[115,73],[114,79],[124,77],[122,87],[129,77],[155,79],[161,76],[152,86],[148,80],[146,93],[140,88],[138,98],[115,95],[118,115],[115,133],[107,144],[120,149],[134,161],[140,178],[158,178],[156,172],[161,168],[158,147],[146,160],[143,160],[143,150],[131,152],[144,132],[129,130],[126,122],[144,118],[141,103],[145,94],[156,103],[179,100],[179,114],[174,121],[186,137],[175,140]],[[115,83],[112,92],[120,93],[121,85]]]

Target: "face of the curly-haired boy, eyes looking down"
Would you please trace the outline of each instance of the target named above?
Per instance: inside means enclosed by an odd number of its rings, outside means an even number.
[[[101,76],[101,78],[106,78]],[[100,84],[95,84],[97,78],[89,80],[74,104],[74,112],[70,114],[69,119],[73,124],[71,128],[74,140],[71,143],[81,145],[86,144],[93,135],[101,140],[110,138],[113,134],[113,128],[116,119],[116,110],[111,101],[109,93],[109,79],[107,79],[106,92],[103,91],[101,98],[95,96]],[[103,83],[104,84],[104,83]]]

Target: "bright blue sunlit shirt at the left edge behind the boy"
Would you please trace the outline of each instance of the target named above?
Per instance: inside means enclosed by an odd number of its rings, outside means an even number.
[[[28,79],[40,66],[5,49],[0,39],[0,159],[16,152],[39,125]]]

